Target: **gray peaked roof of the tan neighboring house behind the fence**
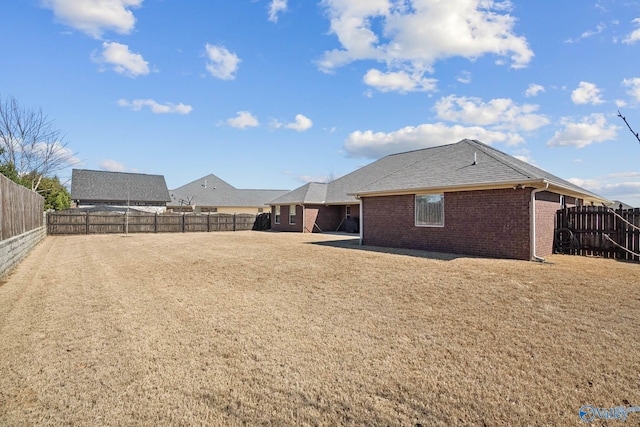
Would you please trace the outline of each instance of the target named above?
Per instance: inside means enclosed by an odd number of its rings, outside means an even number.
[[[170,193],[169,206],[262,207],[267,206],[270,200],[288,193],[288,190],[238,189],[209,174]]]

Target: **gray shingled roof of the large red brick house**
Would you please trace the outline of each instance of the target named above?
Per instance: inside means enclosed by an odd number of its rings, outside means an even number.
[[[472,165],[474,157],[476,165]],[[540,168],[469,139],[455,144],[392,154],[328,184],[316,185],[325,186],[323,204],[348,204],[357,203],[354,194],[535,180],[551,181],[573,192],[602,199]],[[319,203],[318,200],[322,198],[310,190],[311,187],[306,184],[272,200],[270,204]]]

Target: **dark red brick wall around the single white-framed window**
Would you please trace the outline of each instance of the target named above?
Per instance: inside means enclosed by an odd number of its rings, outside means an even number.
[[[530,188],[445,193],[444,227],[416,227],[415,196],[366,197],[363,243],[528,260],[530,201]]]

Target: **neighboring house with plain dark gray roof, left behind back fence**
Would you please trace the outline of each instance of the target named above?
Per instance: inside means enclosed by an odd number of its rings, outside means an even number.
[[[171,199],[162,175],[73,169],[71,199],[78,208],[162,212]]]

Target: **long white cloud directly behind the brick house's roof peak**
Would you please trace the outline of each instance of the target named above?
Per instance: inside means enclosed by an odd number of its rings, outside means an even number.
[[[344,146],[351,157],[375,159],[393,153],[451,144],[464,138],[478,139],[487,144],[520,141],[518,135],[494,132],[479,126],[448,126],[444,123],[433,123],[407,126],[388,133],[371,130],[352,132]]]

